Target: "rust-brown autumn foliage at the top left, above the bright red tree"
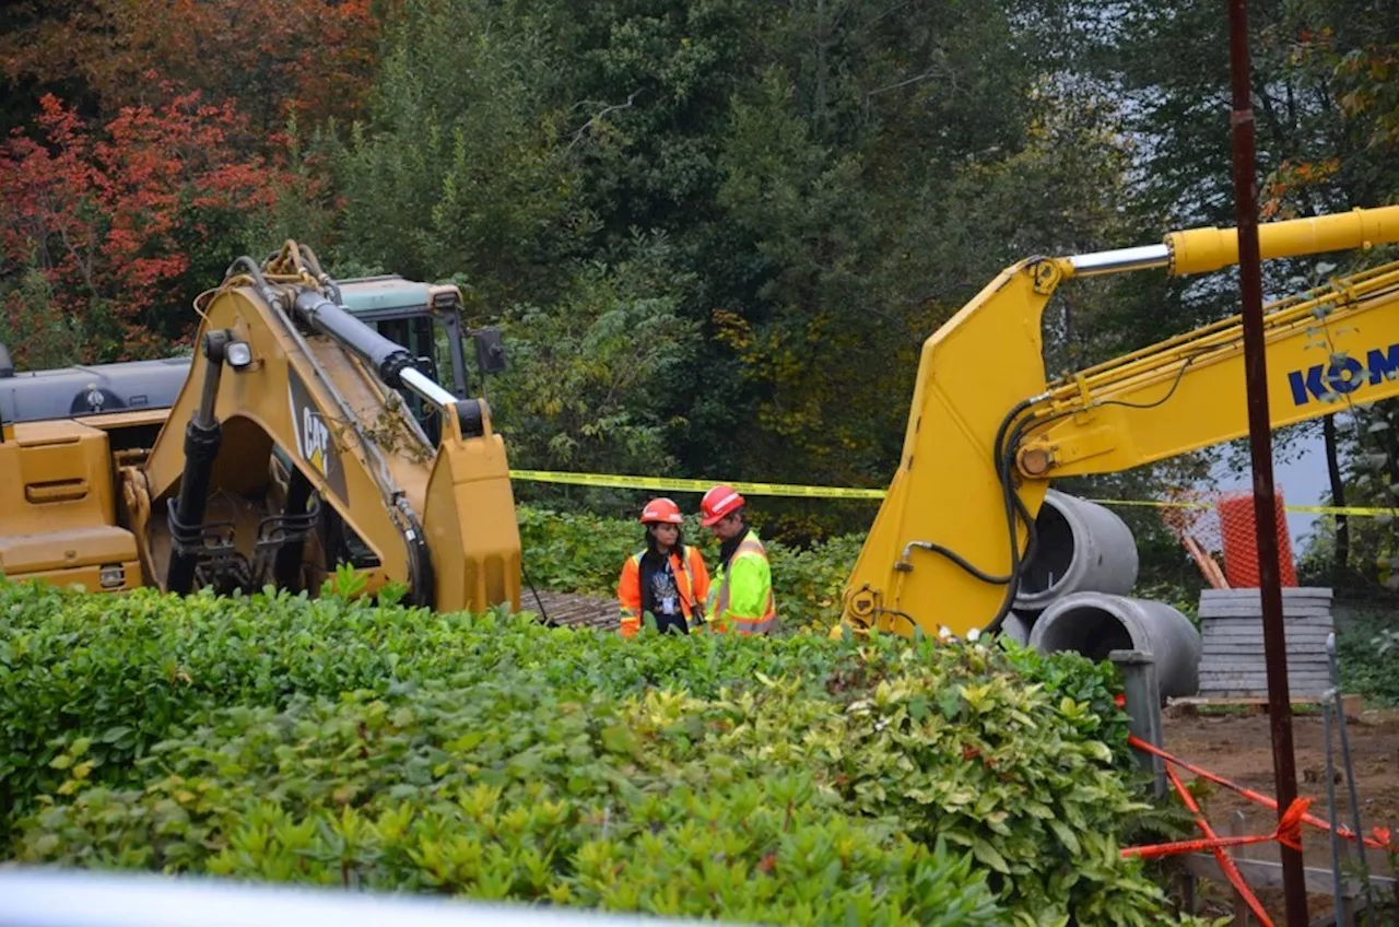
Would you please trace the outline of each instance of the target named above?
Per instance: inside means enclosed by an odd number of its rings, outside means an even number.
[[[234,101],[259,129],[348,118],[397,0],[92,0],[0,38],[11,78],[81,78],[104,113],[168,99],[164,81]],[[159,74],[155,78],[154,74]]]

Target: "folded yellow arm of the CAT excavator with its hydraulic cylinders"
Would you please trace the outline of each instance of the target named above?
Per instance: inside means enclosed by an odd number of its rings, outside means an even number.
[[[339,563],[436,611],[519,608],[509,469],[484,400],[457,399],[354,318],[313,252],[241,258],[196,301],[189,378],[148,456],[120,469],[162,590],[315,590]],[[407,388],[438,409],[434,447]]]

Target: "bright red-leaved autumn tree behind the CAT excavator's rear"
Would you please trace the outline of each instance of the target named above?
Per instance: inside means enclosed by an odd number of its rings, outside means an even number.
[[[0,147],[0,274],[38,267],[59,314],[105,314],[120,344],[108,354],[164,350],[148,314],[189,305],[179,279],[189,252],[215,234],[210,224],[267,209],[291,182],[236,154],[246,132],[231,105],[199,94],[125,108],[101,129],[46,95],[35,137],[17,133]]]

